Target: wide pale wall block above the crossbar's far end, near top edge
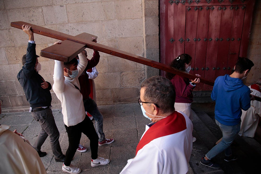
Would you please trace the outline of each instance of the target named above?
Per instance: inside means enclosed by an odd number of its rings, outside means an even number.
[[[106,20],[101,2],[67,4],[66,8],[69,23]]]

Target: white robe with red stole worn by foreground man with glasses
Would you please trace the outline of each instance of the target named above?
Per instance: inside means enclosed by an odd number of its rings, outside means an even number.
[[[126,173],[187,173],[192,152],[193,125],[183,112],[175,111],[146,130],[121,171]]]

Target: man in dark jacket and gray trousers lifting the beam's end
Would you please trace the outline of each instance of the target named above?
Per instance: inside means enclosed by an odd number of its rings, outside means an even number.
[[[51,110],[52,88],[49,82],[44,81],[38,74],[41,69],[40,63],[35,52],[35,41],[31,26],[23,25],[23,31],[28,34],[29,41],[26,55],[22,58],[23,67],[17,74],[17,79],[23,87],[27,101],[30,104],[30,112],[36,121],[41,125],[41,131],[35,140],[33,147],[40,157],[44,157],[46,152],[41,152],[41,146],[50,136],[51,149],[57,162],[64,162],[64,155],[59,143],[60,133],[55,124],[54,116]]]

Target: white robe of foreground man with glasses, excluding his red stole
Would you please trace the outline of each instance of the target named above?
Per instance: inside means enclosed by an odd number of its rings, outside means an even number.
[[[147,143],[138,150],[135,158],[128,160],[121,174],[187,173],[192,152],[193,125],[183,112],[180,113],[184,115],[180,114],[180,116],[185,117],[187,128],[174,134],[158,137]],[[176,125],[178,124],[180,123],[176,123]],[[149,129],[153,129],[153,126],[150,128],[146,125],[141,140]]]

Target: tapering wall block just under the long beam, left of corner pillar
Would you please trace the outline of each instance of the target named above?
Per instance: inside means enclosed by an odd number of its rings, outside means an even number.
[[[144,69],[143,64],[129,61],[120,57],[109,58],[108,67],[110,72],[138,71]]]

